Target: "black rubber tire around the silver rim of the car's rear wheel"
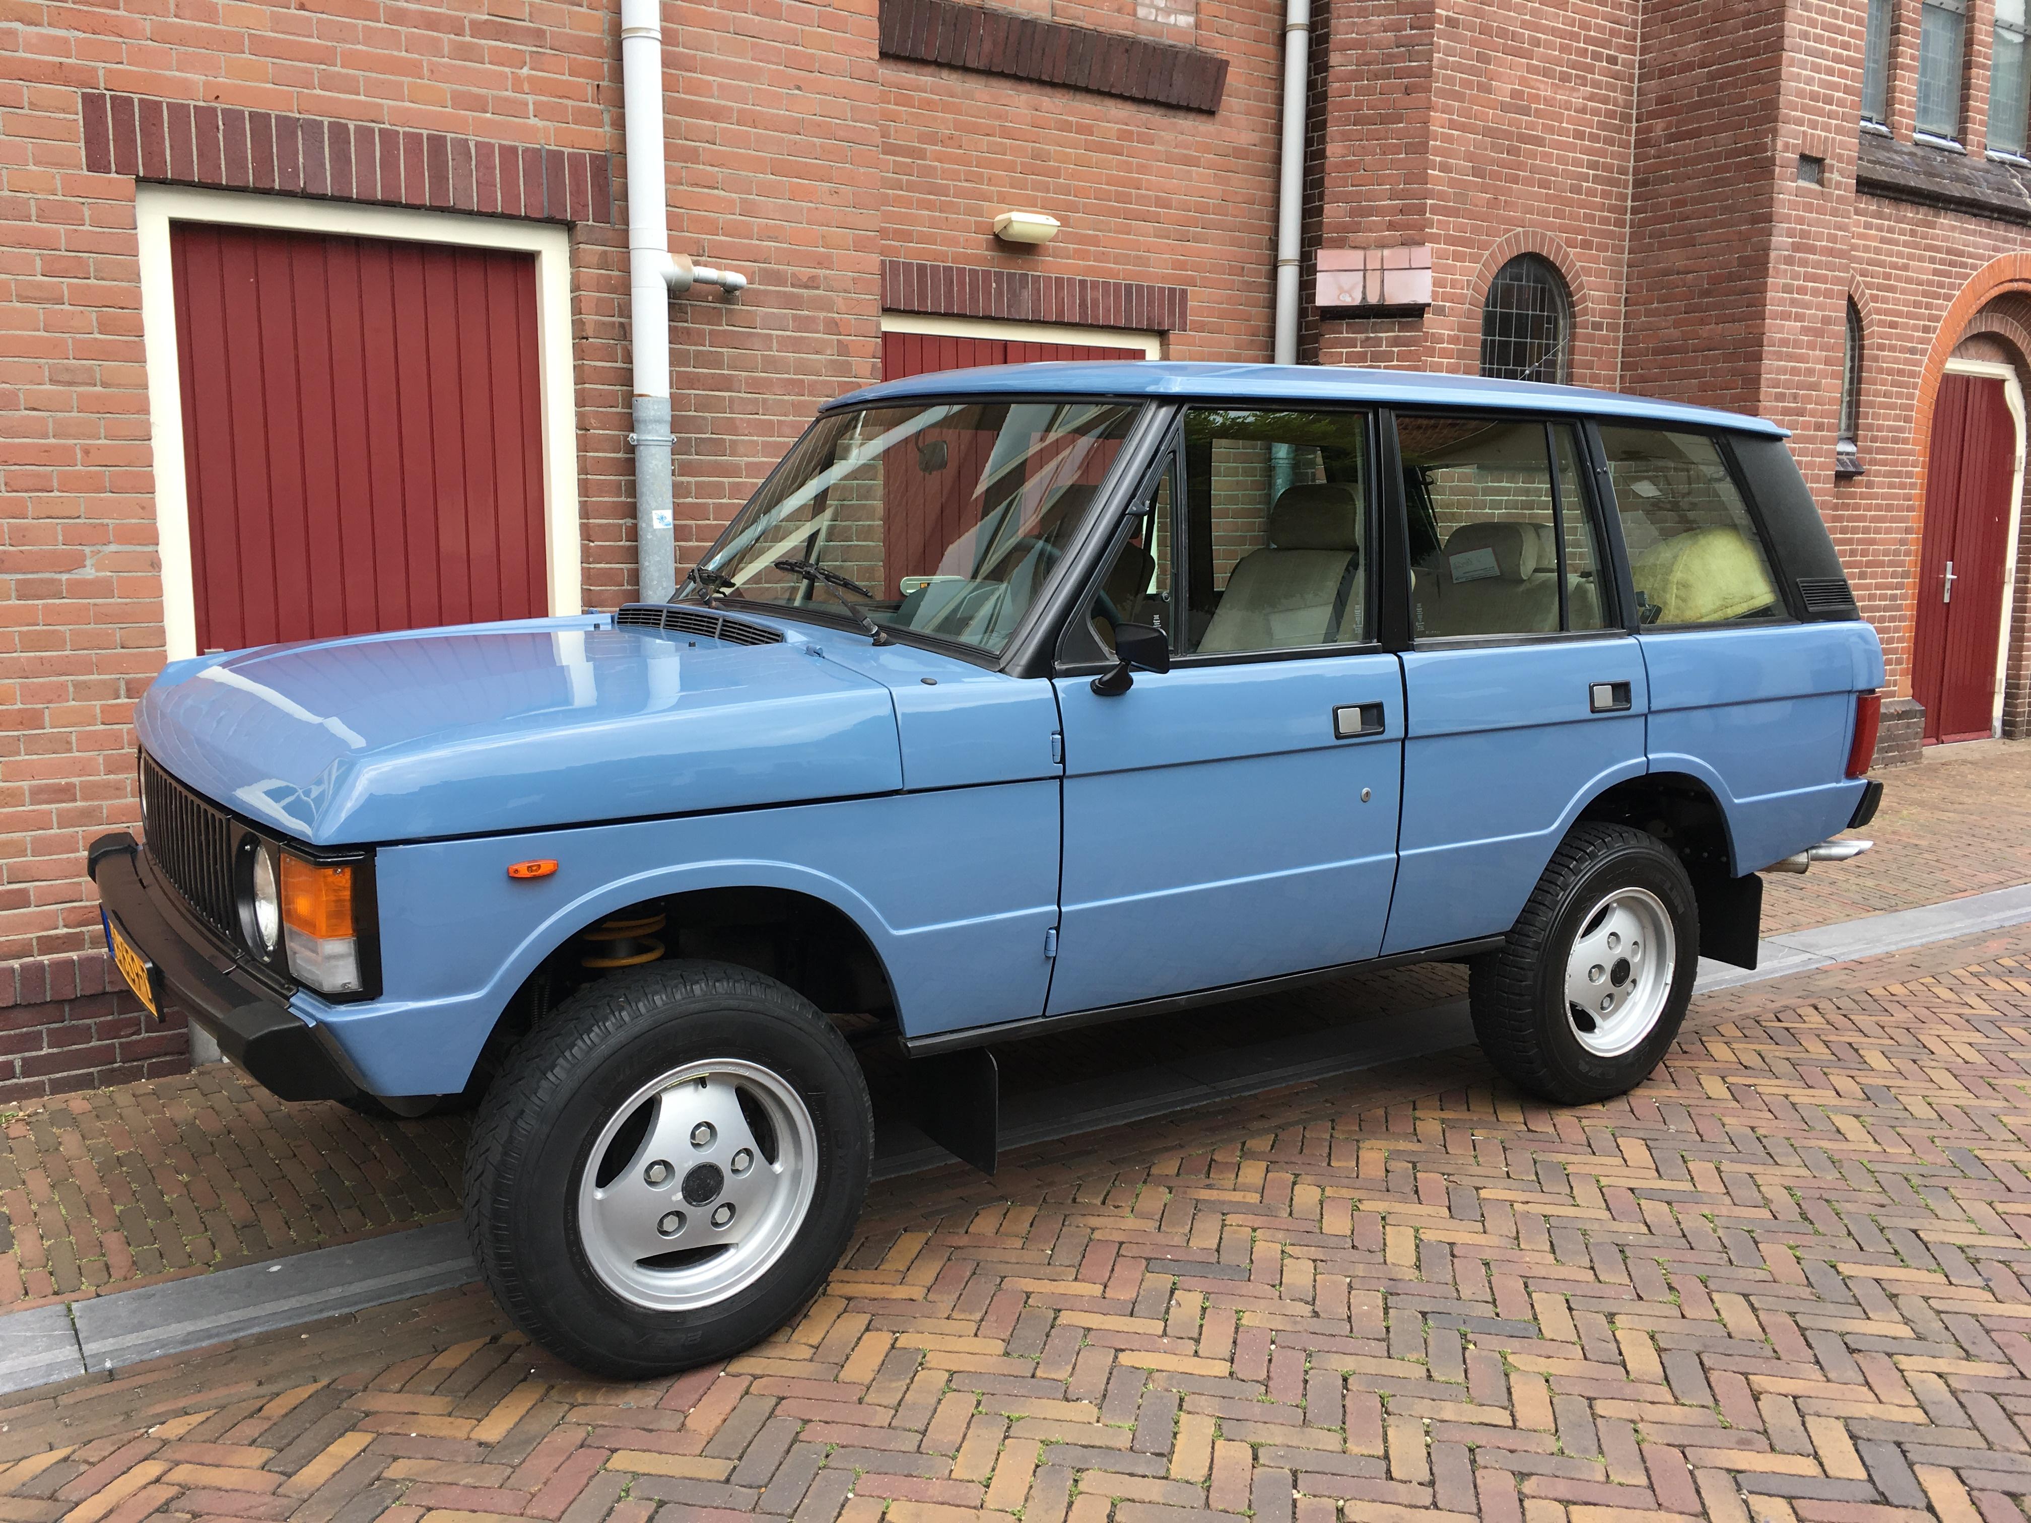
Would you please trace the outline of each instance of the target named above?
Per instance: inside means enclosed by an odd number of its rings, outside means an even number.
[[[1588,930],[1584,922],[1598,926],[1607,914],[1602,902],[1621,889],[1647,896],[1635,900],[1645,914],[1651,902],[1663,908],[1674,965],[1667,981],[1657,975],[1661,1005],[1647,1034],[1627,1052],[1602,1056],[1588,1050],[1580,1032],[1580,1021],[1594,1017],[1568,1001],[1568,956]],[[1625,969],[1627,963],[1615,965]],[[1503,950],[1477,956],[1468,969],[1475,1036],[1517,1088],[1558,1105],[1604,1101],[1641,1084],[1663,1060],[1686,1019],[1698,971],[1700,906],[1672,849],[1625,824],[1576,824],[1552,853]],[[1609,993],[1619,985],[1600,987]]]

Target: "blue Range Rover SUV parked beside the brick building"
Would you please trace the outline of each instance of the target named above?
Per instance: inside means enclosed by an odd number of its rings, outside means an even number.
[[[607,1375],[733,1352],[869,1178],[851,1015],[991,1046],[1458,961],[1586,1103],[1875,810],[1883,656],[1767,422],[1083,363],[825,408],[670,603],[171,664],[114,956],[282,1099],[475,1105],[473,1253]]]

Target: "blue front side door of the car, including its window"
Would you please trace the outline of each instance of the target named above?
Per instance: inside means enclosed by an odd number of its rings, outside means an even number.
[[[1381,948],[1403,686],[1373,646],[1369,431],[1359,412],[1190,410],[1170,473],[1121,530],[1097,638],[1158,623],[1174,664],[1113,697],[1056,678],[1050,1013]]]

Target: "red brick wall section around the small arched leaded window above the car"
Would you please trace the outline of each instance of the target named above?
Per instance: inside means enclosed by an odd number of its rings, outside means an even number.
[[[1475,374],[1481,303],[1517,254],[1574,307],[1572,380],[1615,386],[1635,28],[1613,4],[1330,12],[1322,248],[1432,248],[1424,319],[1310,315],[1322,363]]]

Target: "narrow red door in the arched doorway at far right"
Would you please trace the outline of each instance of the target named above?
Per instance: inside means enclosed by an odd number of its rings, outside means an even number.
[[[2017,424],[2003,382],[1946,376],[1931,414],[1911,690],[1927,741],[1990,733]]]

